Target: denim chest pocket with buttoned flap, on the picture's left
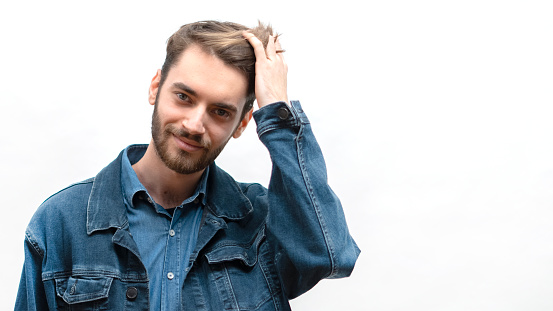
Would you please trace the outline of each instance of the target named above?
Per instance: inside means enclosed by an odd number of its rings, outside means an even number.
[[[58,310],[107,310],[112,277],[57,278]]]

